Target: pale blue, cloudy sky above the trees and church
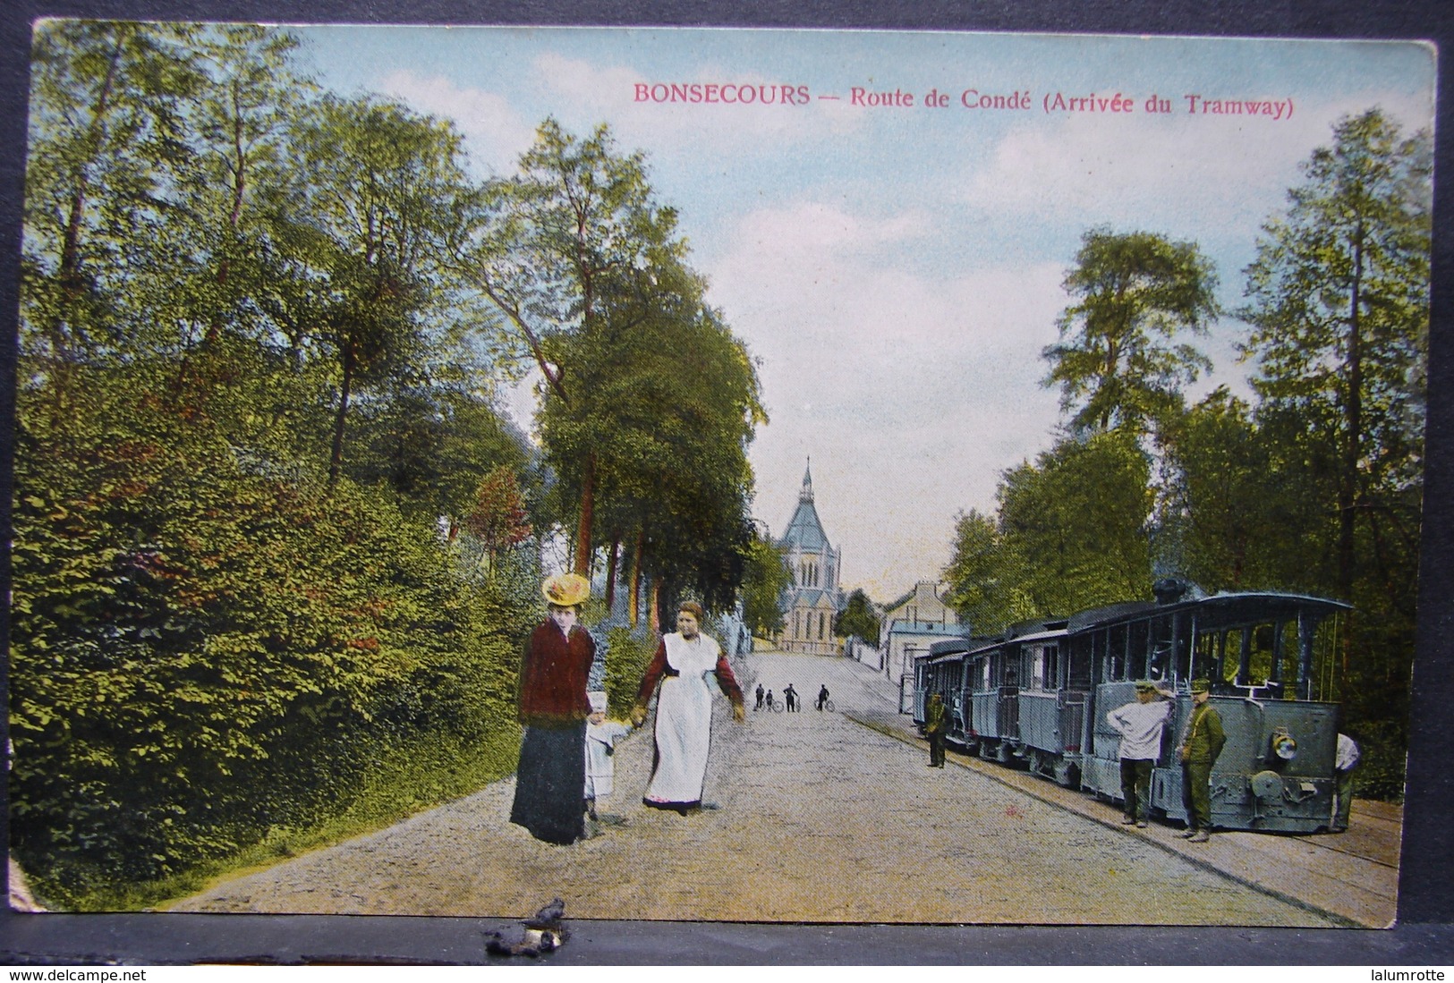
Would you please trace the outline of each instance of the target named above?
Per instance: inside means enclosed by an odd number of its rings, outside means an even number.
[[[1434,51],[1413,42],[300,33],[329,89],[452,119],[477,176],[512,173],[547,116],[577,135],[608,124],[640,150],[708,301],[759,361],[753,515],[781,535],[811,458],[843,586],[880,602],[941,579],[955,515],[993,512],[1002,473],[1053,444],[1064,414],[1041,350],[1086,230],[1197,241],[1236,308],[1262,222],[1338,119],[1381,106],[1416,129],[1434,115]],[[1198,339],[1214,369],[1192,396],[1246,391],[1245,336],[1227,317]],[[526,390],[512,407],[529,416]]]

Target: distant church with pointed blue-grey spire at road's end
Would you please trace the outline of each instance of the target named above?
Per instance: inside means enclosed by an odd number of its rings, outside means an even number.
[[[792,574],[792,586],[782,592],[784,624],[778,647],[782,651],[836,656],[833,619],[846,603],[839,586],[842,554],[827,541],[813,505],[811,461],[803,473],[798,507],[776,545]]]

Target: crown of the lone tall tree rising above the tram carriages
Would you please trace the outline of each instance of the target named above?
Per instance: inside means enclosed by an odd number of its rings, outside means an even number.
[[[1179,409],[1181,385],[1211,362],[1173,339],[1205,333],[1217,314],[1217,276],[1197,244],[1092,228],[1063,286],[1076,302],[1060,316],[1060,342],[1044,349],[1044,382],[1076,410],[1072,425],[1144,430]]]

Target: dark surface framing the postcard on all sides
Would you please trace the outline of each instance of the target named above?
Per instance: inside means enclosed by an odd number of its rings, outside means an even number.
[[[1402,38],[1435,42],[1439,90],[1454,60],[1454,4],[1441,0],[0,0],[0,332],[13,337],[25,167],[29,28],[41,16],[349,23],[893,28],[1072,33]],[[1423,567],[1399,926],[974,928],[577,922],[553,964],[1454,964],[1454,769],[1450,550],[1454,502],[1451,119],[1438,106],[1434,330],[1429,365]],[[13,413],[13,345],[0,346],[0,413]],[[10,429],[3,429],[0,519],[9,532]],[[0,554],[0,576],[9,577]],[[4,612],[0,611],[0,618]],[[3,628],[3,625],[0,625]],[[7,649],[7,647],[6,647]],[[0,667],[3,675],[4,667]],[[3,823],[3,813],[0,813]],[[973,858],[967,858],[973,862]],[[480,963],[496,922],[464,918],[260,915],[13,915],[0,909],[0,963]]]

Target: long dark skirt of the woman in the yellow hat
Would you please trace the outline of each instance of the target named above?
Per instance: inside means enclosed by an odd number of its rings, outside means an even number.
[[[510,822],[547,843],[574,843],[586,835],[585,720],[525,729]]]

